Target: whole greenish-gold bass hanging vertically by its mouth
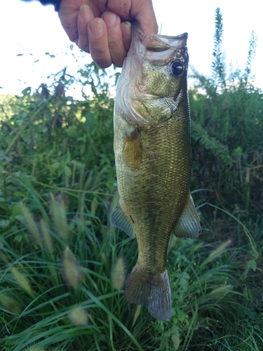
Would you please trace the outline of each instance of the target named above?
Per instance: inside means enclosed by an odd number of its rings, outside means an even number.
[[[187,33],[147,36],[133,22],[114,105],[119,203],[111,222],[136,237],[138,246],[124,298],[161,321],[172,315],[170,236],[194,239],[201,233],[189,189],[188,61]]]

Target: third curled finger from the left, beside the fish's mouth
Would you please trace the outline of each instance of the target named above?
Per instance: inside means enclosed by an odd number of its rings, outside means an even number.
[[[112,11],[106,11],[102,15],[107,27],[109,53],[112,62],[117,67],[121,67],[124,58],[126,58],[127,51],[123,44],[123,37],[121,32],[121,18]]]

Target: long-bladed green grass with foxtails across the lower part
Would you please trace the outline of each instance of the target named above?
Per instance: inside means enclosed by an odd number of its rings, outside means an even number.
[[[262,274],[262,243],[248,228],[241,247],[205,241],[210,229],[198,240],[171,238],[173,317],[159,322],[123,300],[137,247],[104,221],[117,198],[95,190],[88,211],[67,213],[63,189],[43,200],[22,181],[29,205],[15,204],[17,224],[1,234],[0,350],[262,350],[262,300],[251,295],[262,293],[252,278]]]

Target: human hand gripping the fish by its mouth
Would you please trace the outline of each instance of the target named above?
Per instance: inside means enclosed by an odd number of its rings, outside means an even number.
[[[62,0],[60,22],[71,41],[100,67],[121,67],[130,47],[132,19],[145,34],[158,30],[151,0]]]

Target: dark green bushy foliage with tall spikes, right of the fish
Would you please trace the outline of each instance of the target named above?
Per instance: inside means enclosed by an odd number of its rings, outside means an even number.
[[[209,201],[217,206],[242,220],[255,220],[263,209],[263,94],[252,85],[251,72],[256,37],[252,33],[244,71],[237,69],[227,77],[222,32],[222,14],[217,8],[213,75],[204,77],[194,69],[196,84],[189,91],[192,182],[212,190]],[[207,198],[203,195],[196,194],[200,204]],[[202,212],[208,218],[205,208]]]

